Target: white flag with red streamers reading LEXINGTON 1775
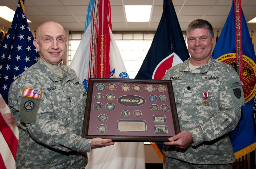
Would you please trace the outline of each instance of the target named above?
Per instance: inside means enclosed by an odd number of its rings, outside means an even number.
[[[99,15],[104,15],[105,18],[101,19]],[[84,35],[70,64],[70,68],[75,70],[78,77],[83,82],[86,91],[88,80],[92,77],[109,78],[110,76],[117,76],[121,78],[129,78],[114,36],[111,32],[110,17],[109,0],[90,0]],[[106,33],[102,33],[104,31]],[[108,46],[106,47],[106,50],[104,48],[106,55],[109,56],[104,56],[108,61],[105,63],[102,63],[101,60],[102,43]],[[99,67],[97,67],[98,64],[100,65]],[[102,66],[102,64],[105,64],[105,67]],[[109,68],[107,68],[107,65]],[[143,143],[136,142],[116,142],[113,146],[92,149],[91,152],[88,153],[88,164],[86,169],[87,168],[143,169],[145,168],[144,145]]]

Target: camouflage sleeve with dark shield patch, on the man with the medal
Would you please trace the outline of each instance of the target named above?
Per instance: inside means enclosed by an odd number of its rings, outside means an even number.
[[[219,91],[219,111],[214,117],[189,131],[194,141],[192,146],[214,140],[230,132],[241,117],[241,106],[245,103],[242,82],[234,68],[228,67],[223,77]]]

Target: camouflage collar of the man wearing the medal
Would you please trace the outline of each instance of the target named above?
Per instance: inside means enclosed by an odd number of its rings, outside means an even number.
[[[190,61],[191,58],[189,58],[188,60],[185,60],[182,65],[180,66],[179,68],[179,71],[180,72],[191,72],[191,73],[206,73],[209,68],[210,68],[210,65],[212,63],[212,57],[202,66],[199,66],[198,68],[196,68],[195,70],[192,70],[189,68],[189,61]]]

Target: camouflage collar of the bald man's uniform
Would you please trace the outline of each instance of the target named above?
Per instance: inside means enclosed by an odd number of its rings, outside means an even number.
[[[54,82],[61,81],[62,79],[64,79],[64,81],[67,82],[69,80],[74,79],[74,78],[71,78],[72,77],[71,74],[65,69],[65,67],[62,64],[61,64],[61,69],[62,69],[63,77],[60,77],[54,72],[52,72],[47,66],[45,66],[45,64],[43,64],[43,62],[40,59],[38,59],[37,64],[38,64],[38,67],[41,68]]]

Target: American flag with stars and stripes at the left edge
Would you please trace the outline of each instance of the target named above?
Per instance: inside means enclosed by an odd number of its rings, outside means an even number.
[[[8,92],[14,79],[36,63],[38,51],[24,14],[24,0],[18,0],[11,27],[0,46],[0,168],[15,168],[18,129],[5,118]]]

